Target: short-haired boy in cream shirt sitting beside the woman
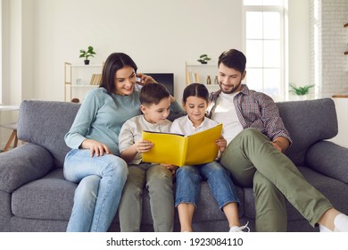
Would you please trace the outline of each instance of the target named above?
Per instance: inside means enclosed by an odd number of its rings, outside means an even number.
[[[170,132],[170,93],[162,84],[148,84],[140,91],[138,115],[126,121],[120,129],[120,157],[128,162],[128,179],[120,201],[120,230],[139,231],[142,215],[143,187],[149,191],[153,229],[173,230],[174,198],[171,171],[166,166],[142,162],[142,153],[153,144],[142,139],[142,131]]]

